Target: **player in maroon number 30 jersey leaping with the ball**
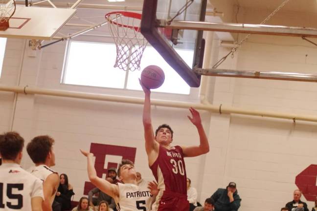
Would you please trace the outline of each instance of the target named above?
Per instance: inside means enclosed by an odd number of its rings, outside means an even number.
[[[196,126],[200,137],[200,145],[192,147],[171,146],[173,130],[168,125],[161,125],[153,133],[151,122],[151,91],[140,81],[145,94],[143,107],[143,126],[145,150],[148,155],[150,169],[158,181],[158,196],[152,211],[188,211],[186,170],[184,157],[195,157],[209,151],[209,144],[204,132],[200,114],[189,108],[190,122]]]

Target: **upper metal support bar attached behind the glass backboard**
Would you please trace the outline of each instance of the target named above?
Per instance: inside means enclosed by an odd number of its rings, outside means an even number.
[[[203,21],[158,21],[159,27],[172,29],[189,29],[204,31],[221,31],[233,33],[279,35],[293,37],[312,37],[317,38],[317,28],[303,28],[291,26],[274,26],[261,24],[240,24],[240,23],[214,23]]]

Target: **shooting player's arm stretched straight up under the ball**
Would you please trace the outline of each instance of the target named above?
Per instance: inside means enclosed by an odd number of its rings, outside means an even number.
[[[158,143],[154,139],[152,120],[151,120],[151,91],[145,87],[141,81],[140,84],[144,91],[144,105],[143,105],[143,127],[144,127],[144,138],[145,138],[145,150],[147,155],[153,156],[153,153],[158,152]],[[155,152],[154,152],[155,151]],[[154,155],[155,156],[155,155]],[[155,158],[156,159],[156,158]],[[149,162],[150,163],[150,162]],[[151,164],[150,164],[151,165]]]

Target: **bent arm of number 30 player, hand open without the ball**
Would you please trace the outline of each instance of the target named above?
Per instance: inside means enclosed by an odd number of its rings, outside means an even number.
[[[202,154],[205,154],[209,151],[209,143],[207,136],[204,131],[204,127],[202,125],[202,119],[197,110],[193,107],[189,108],[192,117],[187,116],[191,123],[196,126],[199,134],[200,145],[199,146],[191,146],[191,147],[181,147],[185,157],[195,157]]]

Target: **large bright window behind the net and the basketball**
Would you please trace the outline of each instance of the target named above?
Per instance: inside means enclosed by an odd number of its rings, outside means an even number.
[[[192,66],[193,51],[176,49],[184,61]],[[70,41],[64,66],[65,84],[89,85],[110,88],[142,90],[138,82],[141,70],[148,65],[158,65],[164,70],[164,84],[153,91],[189,94],[190,87],[183,81],[153,47],[146,47],[140,71],[114,68],[116,47],[112,43]]]

